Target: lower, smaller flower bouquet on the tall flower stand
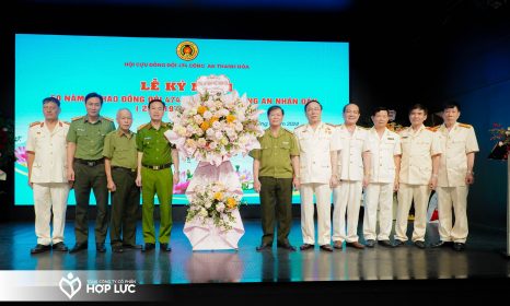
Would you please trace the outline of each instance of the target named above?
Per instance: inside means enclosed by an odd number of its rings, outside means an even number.
[[[241,195],[230,191],[221,181],[197,185],[189,196],[186,221],[198,217],[206,224],[207,220],[211,220],[217,227],[229,231],[235,222],[232,212],[241,204]]]

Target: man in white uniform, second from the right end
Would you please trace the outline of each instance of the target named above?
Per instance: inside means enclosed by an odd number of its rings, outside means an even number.
[[[407,220],[414,200],[415,222],[412,239],[418,248],[426,247],[427,207],[430,192],[436,189],[438,184],[441,146],[439,134],[426,128],[425,120],[427,120],[427,108],[420,104],[414,105],[409,110],[410,127],[399,133],[402,162],[395,246],[404,245],[407,240]]]

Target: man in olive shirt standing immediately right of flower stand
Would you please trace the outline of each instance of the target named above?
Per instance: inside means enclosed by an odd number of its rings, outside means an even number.
[[[267,110],[270,127],[258,139],[260,149],[250,152],[253,160],[254,189],[260,193],[262,244],[258,251],[270,249],[275,233],[275,208],[278,221],[277,246],[295,250],[289,243],[292,223],[292,185],[299,188],[299,149],[292,132],[281,128],[283,109]]]

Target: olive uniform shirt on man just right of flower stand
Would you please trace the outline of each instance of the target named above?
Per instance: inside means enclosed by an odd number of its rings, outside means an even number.
[[[260,149],[250,152],[250,156],[260,161],[258,176],[275,178],[291,178],[292,164],[290,156],[298,156],[298,141],[292,132],[280,128],[278,136],[274,137],[270,128],[258,138]]]

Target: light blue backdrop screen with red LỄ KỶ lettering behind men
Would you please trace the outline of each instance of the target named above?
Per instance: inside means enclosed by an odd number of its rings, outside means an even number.
[[[150,98],[162,98],[172,111],[182,96],[196,94],[194,83],[199,76],[223,74],[233,84],[232,90],[246,94],[259,109],[280,105],[289,130],[306,122],[303,106],[310,98],[323,104],[323,121],[341,123],[341,108],[349,101],[348,51],[348,43],[339,42],[18,34],[15,204],[33,204],[25,142],[30,123],[44,119],[44,97],[59,98],[60,119],[70,121],[85,115],[84,96],[97,92],[104,97],[101,115],[115,118],[118,108],[127,107],[134,113],[136,131],[149,121]],[[265,114],[260,120],[267,127]],[[196,166],[194,161],[181,163],[175,204],[187,202],[184,191]],[[243,183],[244,199],[259,203],[253,191],[252,158],[236,156],[232,164]],[[298,193],[293,202],[300,202]],[[76,203],[72,192],[69,203]]]

